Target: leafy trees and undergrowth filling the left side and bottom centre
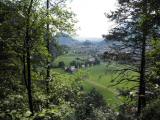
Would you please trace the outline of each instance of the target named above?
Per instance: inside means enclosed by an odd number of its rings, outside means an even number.
[[[89,94],[83,91],[81,76],[53,72],[52,62],[60,51],[54,36],[74,31],[74,14],[66,2],[0,1],[0,119],[114,117],[97,91]]]

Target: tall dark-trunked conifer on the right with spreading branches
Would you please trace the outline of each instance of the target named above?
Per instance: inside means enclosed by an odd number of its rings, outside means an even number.
[[[132,63],[134,67],[125,68],[121,70],[119,75],[126,71],[134,71],[139,76],[130,78],[122,77],[118,82],[122,81],[136,81],[139,79],[138,92],[138,114],[146,105],[146,48],[150,46],[151,37],[153,34],[153,6],[152,2],[148,0],[119,0],[119,8],[108,15],[108,18],[115,20],[117,27],[111,30],[110,34],[103,36],[106,39],[118,40],[122,43],[120,50],[128,49],[132,54]],[[155,4],[154,4],[155,5]],[[155,12],[156,13],[156,12]],[[125,74],[124,74],[125,75]]]

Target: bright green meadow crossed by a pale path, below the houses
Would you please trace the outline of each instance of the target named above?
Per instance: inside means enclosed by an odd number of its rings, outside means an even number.
[[[107,72],[106,68],[106,65],[102,63],[86,69],[88,79],[84,80],[83,86],[86,91],[96,88],[108,104],[117,106],[121,104],[121,99],[117,96],[116,87],[110,87],[114,75],[110,71]]]

